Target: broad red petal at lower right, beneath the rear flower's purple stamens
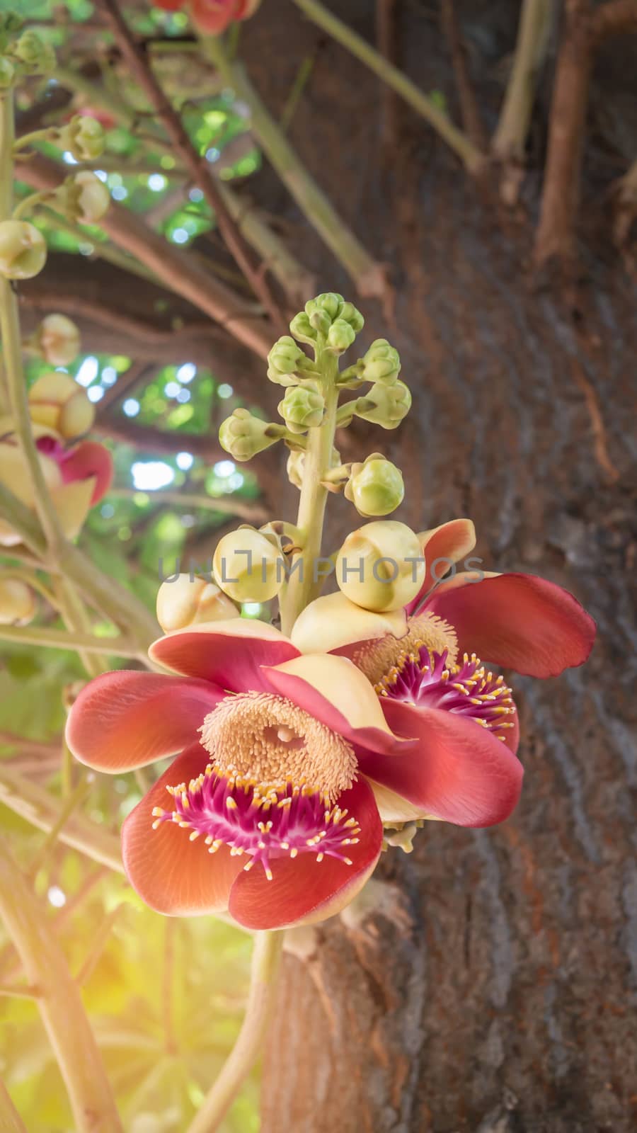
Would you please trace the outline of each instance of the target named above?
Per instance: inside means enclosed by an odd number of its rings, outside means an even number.
[[[419,746],[405,755],[360,757],[368,778],[402,795],[423,815],[457,826],[493,826],[516,807],[523,767],[486,727],[457,713],[382,698],[388,723]]]

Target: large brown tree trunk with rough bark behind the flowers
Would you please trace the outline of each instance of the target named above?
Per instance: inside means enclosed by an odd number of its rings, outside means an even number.
[[[372,39],[371,7],[348,0],[339,12]],[[482,44],[475,66],[491,125],[493,61],[513,43],[517,9],[459,6],[468,41]],[[426,6],[401,5],[399,17],[402,65],[455,111]],[[246,27],[250,73],[272,110],[316,37],[286,2],[263,5]],[[359,429],[356,444],[364,453],[388,442],[406,474],[404,519],[422,529],[472,516],[486,568],[568,587],[600,638],[583,670],[515,679],[526,786],[513,818],[484,832],[430,824],[410,857],[394,850],[383,862],[396,886],[388,896],[400,894],[396,917],[389,902],[357,930],[337,919],[309,961],[287,957],[263,1133],[628,1133],[635,297],[608,233],[595,246],[602,198],[591,181],[588,278],[574,317],[528,275],[534,178],[529,218],[503,220],[408,111],[400,152],[381,171],[379,97],[375,79],[325,45],[292,128],[316,178],[393,270],[393,312],[367,304],[368,338],[396,341],[415,408],[398,434]],[[282,187],[262,177],[321,289],[347,292]],[[336,543],[356,517],[345,501],[332,512]]]

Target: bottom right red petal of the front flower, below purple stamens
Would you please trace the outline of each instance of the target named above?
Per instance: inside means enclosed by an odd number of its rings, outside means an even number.
[[[313,853],[278,858],[271,881],[255,864],[249,874],[239,874],[230,891],[230,914],[239,925],[264,929],[313,923],[332,917],[356,896],[379,860],[383,829],[365,780],[343,791],[339,807],[347,808],[360,826],[358,844],[345,847],[353,864],[336,858],[318,862]]]

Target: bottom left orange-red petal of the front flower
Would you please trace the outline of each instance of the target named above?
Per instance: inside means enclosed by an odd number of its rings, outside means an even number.
[[[241,869],[228,846],[209,853],[203,838],[190,842],[176,823],[153,830],[153,807],[170,809],[167,786],[196,778],[205,769],[206,752],[197,743],[184,751],[144,795],[124,824],[121,851],[126,876],[142,901],[159,913],[189,917],[228,908],[230,886]]]

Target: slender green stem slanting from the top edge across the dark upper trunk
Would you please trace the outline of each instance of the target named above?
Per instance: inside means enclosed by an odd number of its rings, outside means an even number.
[[[425,118],[430,126],[447,142],[447,145],[453,153],[460,157],[470,173],[477,173],[484,168],[484,155],[467,135],[462,130],[459,130],[444,111],[440,110],[428,95],[421,91],[411,79],[407,78],[407,75],[404,75],[398,67],[394,67],[384,56],[381,56],[362,35],[358,35],[347,24],[343,24],[341,19],[333,16],[328,8],[318,3],[318,0],[294,0],[294,2],[314,24],[326,32],[328,35],[331,35],[341,46],[350,51],[353,56],[356,56],[383,83],[387,83],[388,86],[405,99],[422,118]]]

